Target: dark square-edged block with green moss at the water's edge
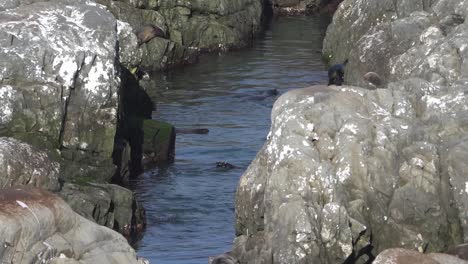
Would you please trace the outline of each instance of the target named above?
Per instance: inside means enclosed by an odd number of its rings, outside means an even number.
[[[173,125],[145,119],[143,121],[143,153],[153,162],[172,162],[175,155],[175,128]]]

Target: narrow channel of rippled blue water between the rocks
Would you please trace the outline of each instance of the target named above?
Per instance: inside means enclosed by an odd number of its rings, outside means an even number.
[[[137,182],[148,228],[138,255],[158,264],[206,264],[234,239],[234,194],[239,177],[263,145],[271,107],[290,89],[326,82],[319,51],[326,19],[281,17],[252,48],[203,56],[196,65],[154,76],[148,91],[157,120],[178,128],[175,163],[145,172]],[[227,161],[236,168],[216,168]]]

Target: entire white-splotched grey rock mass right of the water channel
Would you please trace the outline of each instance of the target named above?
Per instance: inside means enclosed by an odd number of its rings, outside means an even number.
[[[468,238],[468,1],[345,0],[345,81],[281,96],[236,194],[241,263],[370,261]],[[368,90],[373,71],[385,89]]]

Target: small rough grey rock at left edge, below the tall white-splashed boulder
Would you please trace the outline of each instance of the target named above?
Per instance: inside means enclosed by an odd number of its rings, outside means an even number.
[[[18,140],[0,137],[0,189],[31,185],[58,191],[59,168],[47,153]]]

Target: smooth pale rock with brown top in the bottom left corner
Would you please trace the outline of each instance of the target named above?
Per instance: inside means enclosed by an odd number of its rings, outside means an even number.
[[[35,188],[0,190],[2,263],[143,263],[124,237]]]

